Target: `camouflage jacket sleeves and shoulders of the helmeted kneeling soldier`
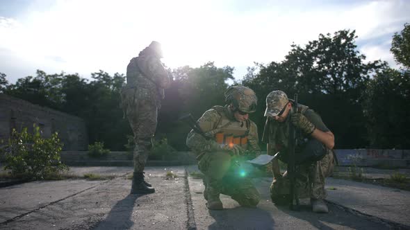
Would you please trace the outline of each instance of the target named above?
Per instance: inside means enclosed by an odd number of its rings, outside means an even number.
[[[202,131],[205,133],[213,132],[218,127],[220,127],[220,122],[223,120],[229,120],[229,125],[231,127],[242,127],[243,123],[236,121],[233,113],[227,105],[225,107],[214,106],[211,109],[208,109],[201,118],[197,121]],[[261,149],[259,148],[259,138],[258,138],[258,128],[253,121],[247,120],[249,123],[249,128],[247,131],[247,145],[242,146],[246,150],[256,151],[257,154],[260,154]],[[245,122],[244,122],[245,123]],[[223,130],[224,127],[220,128]],[[200,134],[197,134],[193,130],[190,131],[186,139],[186,145],[197,154],[203,152],[211,152],[211,142],[215,142],[215,136],[213,140],[206,140]]]

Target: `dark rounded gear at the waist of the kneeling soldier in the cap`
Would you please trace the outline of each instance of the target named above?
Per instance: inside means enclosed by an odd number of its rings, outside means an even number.
[[[327,149],[320,141],[316,139],[310,139],[299,148],[299,151],[295,150],[295,164],[313,163],[320,161],[327,154]],[[288,163],[288,152],[281,152],[279,159],[285,163]]]

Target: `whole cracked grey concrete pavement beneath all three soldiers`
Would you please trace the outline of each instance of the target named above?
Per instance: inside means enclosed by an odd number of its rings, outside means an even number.
[[[187,171],[186,171],[187,170]],[[209,211],[202,179],[186,177],[196,166],[147,167],[156,193],[129,195],[132,168],[72,168],[73,173],[120,175],[106,181],[31,182],[0,188],[0,229],[392,229],[408,228],[409,192],[329,179],[329,213],[301,211],[270,202],[270,177],[254,179],[256,209],[221,195],[222,211]],[[166,178],[167,172],[177,175]],[[339,206],[341,204],[345,207]],[[366,214],[357,215],[347,209]],[[378,218],[368,218],[375,215]],[[392,225],[391,222],[401,225]]]

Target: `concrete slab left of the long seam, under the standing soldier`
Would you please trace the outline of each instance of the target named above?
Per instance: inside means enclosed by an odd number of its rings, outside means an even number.
[[[175,170],[179,173],[181,168]],[[5,210],[2,208],[4,213],[31,211],[14,219],[10,215],[5,216],[8,221],[3,222],[3,218],[0,229],[185,229],[188,222],[185,177],[180,174],[181,177],[167,179],[159,168],[147,168],[147,171],[151,172],[149,182],[156,188],[156,193],[148,195],[129,195],[131,180],[126,177],[92,182],[96,186],[74,194],[72,188],[68,188],[86,181],[61,181],[65,188],[56,186],[58,182],[41,183],[44,193],[39,195],[38,200],[42,200],[43,205],[22,209],[20,207],[25,207],[27,200],[19,201],[20,195],[15,196],[15,206]],[[36,193],[33,184],[24,186],[19,188],[30,196]],[[50,188],[54,189],[48,190]],[[52,194],[63,198],[47,203]],[[9,198],[13,199],[11,196]]]

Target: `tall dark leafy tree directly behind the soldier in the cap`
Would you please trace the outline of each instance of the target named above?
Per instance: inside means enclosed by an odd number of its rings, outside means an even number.
[[[335,133],[336,148],[364,147],[366,126],[359,98],[366,82],[385,69],[386,62],[365,63],[354,39],[354,30],[340,30],[334,35],[320,34],[304,47],[293,44],[284,61],[257,64],[259,73],[248,73],[243,85],[254,89],[260,100],[277,89],[290,98],[299,94],[300,103],[318,111]],[[264,110],[264,103],[259,103],[255,114],[259,127],[263,127]]]

